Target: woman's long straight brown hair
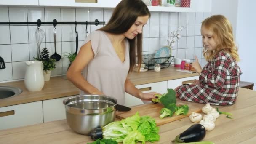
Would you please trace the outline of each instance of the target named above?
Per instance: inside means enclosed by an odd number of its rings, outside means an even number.
[[[127,32],[139,16],[149,16],[147,5],[141,0],[122,0],[115,8],[109,22],[105,27],[100,28],[104,32],[112,34],[123,34]],[[136,63],[136,53],[138,56],[139,68],[142,63],[142,34],[138,34],[130,43],[130,68],[132,72]]]

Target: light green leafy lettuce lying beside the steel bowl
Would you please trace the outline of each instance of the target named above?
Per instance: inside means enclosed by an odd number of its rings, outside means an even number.
[[[123,144],[135,144],[141,141],[159,141],[159,128],[155,120],[149,116],[140,117],[136,112],[132,117],[121,121],[115,121],[102,127],[102,136],[104,139],[112,139]]]

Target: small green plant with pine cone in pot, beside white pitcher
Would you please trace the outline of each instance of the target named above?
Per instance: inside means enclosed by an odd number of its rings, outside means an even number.
[[[47,48],[43,48],[40,53],[40,57],[36,58],[37,61],[43,62],[43,76],[45,81],[49,81],[51,77],[51,71],[56,68],[55,60],[50,58],[50,54]]]

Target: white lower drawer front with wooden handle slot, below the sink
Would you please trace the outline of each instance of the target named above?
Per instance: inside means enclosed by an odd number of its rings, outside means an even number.
[[[0,107],[0,130],[43,123],[42,101]]]

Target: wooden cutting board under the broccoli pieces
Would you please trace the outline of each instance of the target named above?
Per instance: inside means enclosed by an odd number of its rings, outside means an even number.
[[[127,117],[131,117],[136,112],[139,112],[140,116],[148,115],[148,116],[154,118],[155,122],[158,126],[158,125],[163,125],[165,123],[170,123],[175,120],[182,119],[184,117],[188,117],[190,114],[192,114],[192,112],[201,113],[202,107],[204,106],[204,104],[192,103],[192,102],[188,102],[188,101],[178,101],[178,99],[177,99],[176,105],[179,106],[179,105],[183,105],[183,104],[187,104],[189,106],[189,112],[187,115],[174,115],[173,114],[172,117],[164,117],[163,119],[160,119],[159,118],[160,110],[163,108],[163,105],[152,103],[152,104],[142,104],[142,105],[138,105],[135,107],[131,107],[132,109],[129,112],[117,112],[116,117],[119,119],[124,119]]]

